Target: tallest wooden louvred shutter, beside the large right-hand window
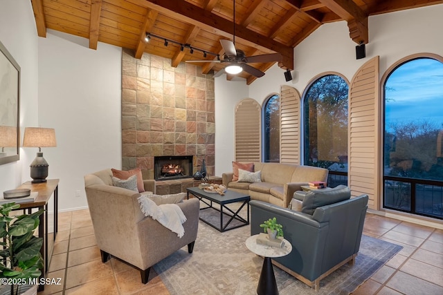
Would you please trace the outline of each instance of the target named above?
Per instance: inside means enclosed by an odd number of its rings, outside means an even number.
[[[348,184],[352,196],[368,194],[371,209],[379,195],[379,57],[363,64],[350,84]]]

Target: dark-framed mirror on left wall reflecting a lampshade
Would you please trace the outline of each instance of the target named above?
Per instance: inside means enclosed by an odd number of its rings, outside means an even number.
[[[0,41],[0,165],[20,159],[20,66]]]

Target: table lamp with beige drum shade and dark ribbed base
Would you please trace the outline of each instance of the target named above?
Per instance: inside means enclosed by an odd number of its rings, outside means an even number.
[[[43,158],[42,147],[57,146],[55,130],[52,128],[26,127],[23,146],[38,147],[37,157],[30,163],[30,177],[33,183],[46,182],[48,162]]]

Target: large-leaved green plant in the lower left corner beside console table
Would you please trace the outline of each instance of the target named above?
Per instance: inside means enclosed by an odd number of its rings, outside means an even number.
[[[0,278],[8,278],[10,294],[19,294],[22,283],[30,278],[38,278],[43,269],[43,258],[40,249],[43,238],[33,235],[39,226],[39,216],[44,209],[32,214],[9,216],[20,205],[15,202],[0,205]],[[14,285],[13,283],[18,283]]]

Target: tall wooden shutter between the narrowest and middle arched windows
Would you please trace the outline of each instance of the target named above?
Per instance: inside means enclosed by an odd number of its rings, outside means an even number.
[[[280,163],[300,164],[300,95],[280,88]]]

